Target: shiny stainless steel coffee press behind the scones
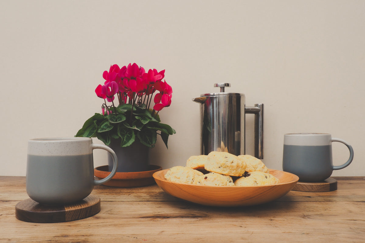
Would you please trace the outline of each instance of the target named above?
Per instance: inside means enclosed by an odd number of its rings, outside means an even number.
[[[215,83],[220,93],[201,94],[201,154],[212,151],[245,154],[245,114],[255,114],[255,157],[264,158],[264,104],[246,106],[245,94],[225,93],[230,83]]]

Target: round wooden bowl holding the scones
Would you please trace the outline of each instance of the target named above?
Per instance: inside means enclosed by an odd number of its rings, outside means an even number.
[[[299,177],[289,172],[270,169],[279,184],[262,186],[206,186],[177,183],[165,179],[168,169],[157,171],[153,177],[159,187],[168,194],[193,203],[208,206],[250,206],[268,203],[287,194]]]

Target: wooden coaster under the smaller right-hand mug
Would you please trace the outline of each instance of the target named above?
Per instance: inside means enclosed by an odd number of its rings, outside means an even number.
[[[337,190],[337,180],[329,177],[320,182],[302,182],[298,181],[292,191],[299,192],[331,192]]]

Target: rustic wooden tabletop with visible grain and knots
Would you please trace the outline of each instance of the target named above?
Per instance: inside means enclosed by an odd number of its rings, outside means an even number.
[[[365,242],[365,177],[335,177],[337,191],[297,192],[265,205],[206,207],[157,185],[100,185],[95,216],[65,223],[15,217],[25,177],[0,176],[0,242]]]

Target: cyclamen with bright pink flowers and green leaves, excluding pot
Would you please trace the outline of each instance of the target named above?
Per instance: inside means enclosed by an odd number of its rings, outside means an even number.
[[[153,148],[158,134],[167,148],[169,135],[176,132],[162,124],[158,115],[160,110],[170,106],[172,98],[172,88],[162,81],[164,77],[165,70],[145,72],[135,63],[122,68],[112,65],[109,72],[103,72],[104,85],[95,89],[96,95],[104,99],[102,113],[87,119],[76,137],[97,137],[105,145],[115,139],[120,141],[121,147],[130,146],[138,139]],[[156,91],[159,93],[154,95]],[[154,105],[150,108],[152,99]]]

